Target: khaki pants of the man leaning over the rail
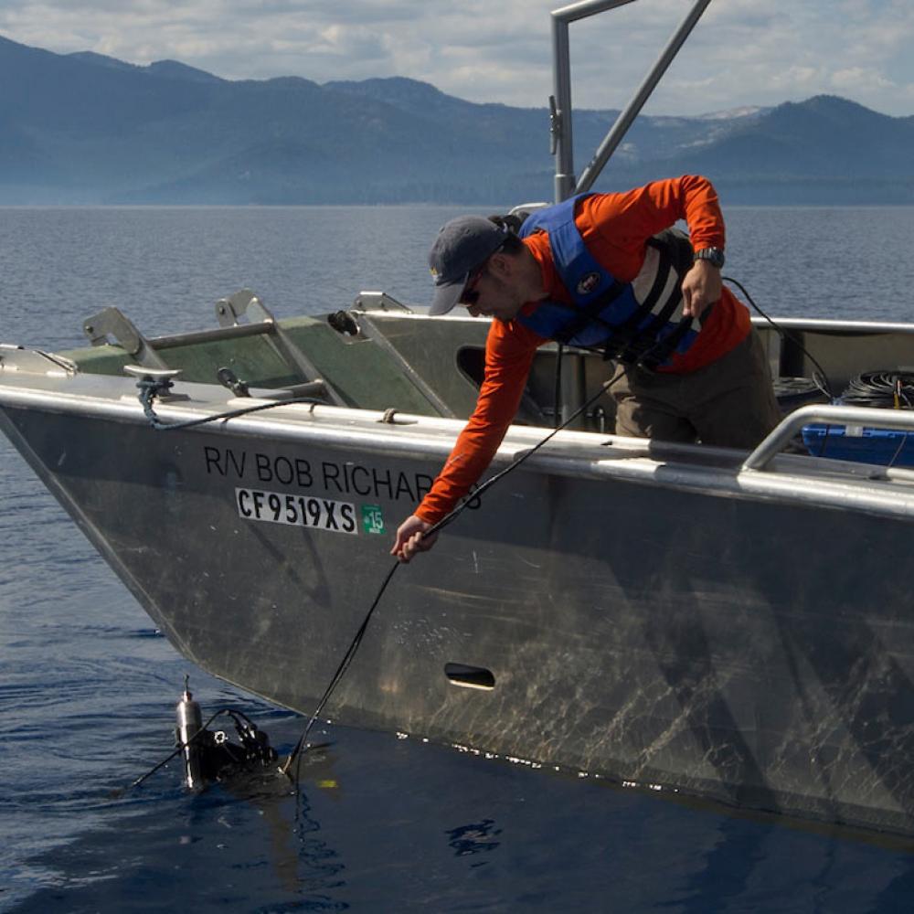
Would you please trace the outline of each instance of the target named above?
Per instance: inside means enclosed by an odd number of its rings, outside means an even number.
[[[759,335],[697,371],[672,375],[620,366],[611,393],[616,434],[754,448],[781,421]]]

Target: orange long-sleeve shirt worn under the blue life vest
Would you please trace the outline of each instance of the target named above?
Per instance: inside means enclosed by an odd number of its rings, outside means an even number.
[[[707,178],[697,175],[654,181],[624,194],[594,194],[580,201],[575,214],[575,224],[590,253],[622,282],[632,282],[641,270],[647,239],[679,219],[685,219],[696,250],[724,247],[717,194]],[[539,264],[548,298],[570,303],[553,264],[547,234],[537,232],[524,243]],[[537,303],[528,303],[522,312],[530,314],[536,308]],[[685,353],[675,353],[663,370],[682,374],[708,365],[739,345],[750,325],[749,312],[725,288],[696,341]],[[430,524],[441,520],[492,461],[515,417],[533,356],[547,342],[519,321],[492,322],[476,409],[416,511],[422,520]]]

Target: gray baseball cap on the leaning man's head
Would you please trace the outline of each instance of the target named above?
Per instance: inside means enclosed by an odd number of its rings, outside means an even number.
[[[505,241],[505,229],[482,216],[458,216],[445,223],[429,251],[435,294],[429,314],[447,314],[466,283]]]

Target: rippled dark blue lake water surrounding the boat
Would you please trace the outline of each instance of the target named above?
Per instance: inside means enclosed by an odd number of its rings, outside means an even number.
[[[118,305],[146,335],[363,289],[425,302],[453,207],[0,208],[0,340],[60,349]],[[914,208],[735,208],[728,268],[773,315],[911,319]],[[420,572],[417,567],[415,569]],[[369,634],[370,636],[370,634]],[[357,660],[356,660],[357,662]],[[303,720],[183,661],[0,440],[0,909],[859,912],[914,907],[914,843],[623,790],[341,727],[288,785],[200,795],[174,764],[184,675],[288,751]],[[556,707],[557,715],[573,709]]]

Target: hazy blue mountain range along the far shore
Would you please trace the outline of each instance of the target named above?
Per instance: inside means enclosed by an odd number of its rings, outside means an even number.
[[[575,112],[580,170],[618,112]],[[641,117],[600,181],[699,172],[731,203],[914,203],[914,118],[819,96]],[[552,196],[544,109],[401,78],[222,80],[0,37],[0,203],[510,205]]]

